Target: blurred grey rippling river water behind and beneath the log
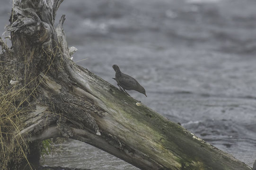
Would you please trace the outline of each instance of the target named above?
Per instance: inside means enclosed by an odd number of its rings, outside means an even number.
[[[0,2],[0,33],[11,6]],[[132,97],[252,166],[256,0],[65,0],[56,23],[62,14],[77,64],[113,85],[117,64],[148,95]],[[138,170],[79,141],[55,147],[43,165]]]

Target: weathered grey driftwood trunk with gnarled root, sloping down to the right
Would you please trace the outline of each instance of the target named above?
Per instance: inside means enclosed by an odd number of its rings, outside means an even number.
[[[214,146],[127,96],[71,59],[62,0],[21,0],[8,30],[12,49],[2,67],[11,70],[6,89],[26,88],[18,109],[25,127],[18,135],[35,142],[73,138],[96,146],[142,170],[251,170]],[[5,93],[5,92],[2,92]],[[22,100],[22,101],[21,101]]]

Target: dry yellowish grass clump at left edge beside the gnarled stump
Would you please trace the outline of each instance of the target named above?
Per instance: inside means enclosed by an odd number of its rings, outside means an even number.
[[[10,166],[26,159],[28,145],[19,134],[24,127],[22,115],[27,110],[24,105],[27,89],[16,89],[9,82],[12,73],[0,64],[0,170],[8,170]],[[26,104],[27,105],[27,104]],[[12,167],[17,169],[18,167]]]

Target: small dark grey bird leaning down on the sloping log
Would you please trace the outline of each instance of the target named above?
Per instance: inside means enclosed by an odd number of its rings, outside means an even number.
[[[120,87],[121,90],[123,88],[125,93],[127,93],[125,90],[135,90],[137,92],[145,94],[145,96],[148,97],[146,95],[146,91],[145,91],[144,87],[142,87],[137,82],[137,80],[135,80],[135,78],[122,73],[116,64],[114,64],[112,67],[115,70],[115,78],[113,78],[113,79],[115,79],[115,81],[117,82],[117,85]]]

